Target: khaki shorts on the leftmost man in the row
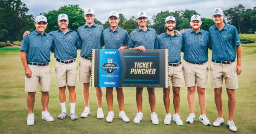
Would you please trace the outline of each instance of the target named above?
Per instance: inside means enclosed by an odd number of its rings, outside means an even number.
[[[25,91],[36,92],[38,90],[38,82],[40,90],[43,92],[50,91],[51,84],[51,68],[50,66],[35,66],[28,65],[32,71],[32,77],[28,78],[25,75]]]

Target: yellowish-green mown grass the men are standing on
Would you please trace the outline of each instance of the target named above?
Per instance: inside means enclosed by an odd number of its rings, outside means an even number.
[[[241,34],[241,38],[256,41],[256,34]],[[242,44],[242,74],[239,75],[239,88],[236,90],[236,111],[234,122],[238,128],[237,133],[253,134],[256,133],[256,43]],[[79,51],[80,53],[80,51]],[[211,51],[209,51],[208,66],[211,63]],[[78,56],[76,62],[79,65]],[[182,56],[183,59],[183,56]],[[48,111],[54,117],[54,122],[47,122],[41,119],[41,92],[36,93],[35,99],[35,125],[26,125],[27,106],[25,83],[24,83],[24,69],[20,61],[19,48],[0,48],[0,133],[188,133],[188,134],[204,134],[204,133],[218,133],[226,134],[232,133],[226,127],[228,119],[227,109],[227,93],[223,89],[223,112],[224,125],[215,128],[211,126],[204,126],[198,121],[200,109],[198,105],[198,95],[195,94],[195,115],[196,120],[193,124],[185,123],[186,117],[189,115],[189,108],[186,100],[186,87],[180,89],[180,117],[184,125],[178,126],[173,121],[171,125],[163,124],[165,118],[165,108],[163,104],[163,88],[156,88],[156,112],[159,119],[159,125],[153,125],[150,120],[150,106],[148,103],[148,93],[144,88],[143,91],[143,120],[139,124],[133,123],[134,117],[137,113],[137,105],[135,99],[135,88],[124,88],[125,93],[125,113],[130,118],[130,123],[124,123],[118,119],[119,107],[116,100],[116,91],[113,90],[114,101],[114,121],[113,123],[106,123],[105,118],[102,120],[96,119],[97,100],[95,88],[90,88],[90,116],[87,118],[80,118],[81,112],[84,110],[84,102],[82,97],[82,84],[79,83],[79,77],[76,84],[76,114],[79,120],[72,121],[69,117],[64,120],[58,120],[58,114],[61,112],[60,103],[58,100],[58,86],[55,78],[55,62],[54,54],[51,55],[51,90]],[[78,68],[79,71],[79,68]],[[78,73],[77,71],[77,73]],[[184,85],[184,84],[183,84]],[[207,107],[206,113],[210,122],[213,123],[218,117],[218,113],[214,101],[214,91],[210,86],[210,72],[207,83]],[[105,98],[105,88],[103,88],[103,103],[102,108],[105,117],[108,114],[108,106]],[[70,105],[67,95],[67,112],[70,113]],[[172,104],[172,93],[170,110],[173,114],[174,108]],[[253,114],[254,113],[254,114]]]

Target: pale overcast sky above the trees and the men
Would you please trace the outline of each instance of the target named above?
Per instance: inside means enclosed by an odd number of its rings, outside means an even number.
[[[211,17],[211,11],[215,7],[223,10],[242,4],[245,8],[253,8],[256,0],[22,0],[29,8],[28,14],[34,17],[42,12],[57,10],[68,4],[78,4],[83,10],[92,8],[95,17],[104,23],[108,19],[110,11],[117,11],[124,14],[128,19],[136,16],[138,11],[146,11],[151,19],[160,11],[195,10],[201,17]],[[57,16],[56,16],[57,18]]]

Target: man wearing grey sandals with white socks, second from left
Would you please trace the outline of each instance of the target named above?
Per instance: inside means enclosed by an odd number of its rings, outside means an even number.
[[[77,49],[80,48],[79,36],[75,31],[68,29],[67,14],[59,14],[58,21],[59,29],[49,33],[54,42],[54,57],[57,62],[55,65],[55,74],[59,87],[59,100],[61,104],[61,113],[58,119],[65,119],[67,116],[66,109],[66,86],[69,90],[70,100],[70,119],[77,120],[78,117],[75,113],[76,106],[76,77],[77,77],[77,64],[76,56]],[[24,36],[29,34],[29,31],[24,33]]]

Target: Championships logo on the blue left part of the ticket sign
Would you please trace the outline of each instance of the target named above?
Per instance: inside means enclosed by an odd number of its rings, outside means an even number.
[[[113,74],[119,69],[119,66],[113,62],[113,58],[108,58],[108,61],[102,64],[101,69],[103,69],[107,74]]]

